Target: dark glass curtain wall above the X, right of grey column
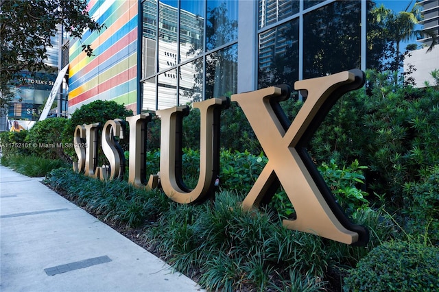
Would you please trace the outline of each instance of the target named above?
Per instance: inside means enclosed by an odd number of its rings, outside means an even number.
[[[361,2],[259,0],[258,88],[360,68]]]

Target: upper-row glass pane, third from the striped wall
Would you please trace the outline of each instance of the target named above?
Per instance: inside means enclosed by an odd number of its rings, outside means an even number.
[[[204,3],[180,2],[180,62],[204,51]]]

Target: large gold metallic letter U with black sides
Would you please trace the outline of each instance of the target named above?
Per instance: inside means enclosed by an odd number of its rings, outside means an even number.
[[[160,180],[165,194],[175,202],[188,204],[197,202],[214,192],[219,173],[219,112],[227,104],[225,97],[196,102],[200,109],[200,176],[197,186],[189,190],[181,178],[182,118],[189,114],[186,106],[158,110],[161,116]]]

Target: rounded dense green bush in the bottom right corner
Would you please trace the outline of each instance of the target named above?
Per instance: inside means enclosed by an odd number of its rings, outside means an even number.
[[[351,269],[344,291],[438,291],[439,247],[392,241]]]

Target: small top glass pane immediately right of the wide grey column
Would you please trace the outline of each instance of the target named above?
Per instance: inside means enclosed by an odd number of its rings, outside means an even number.
[[[298,0],[259,0],[259,28],[299,12]]]

